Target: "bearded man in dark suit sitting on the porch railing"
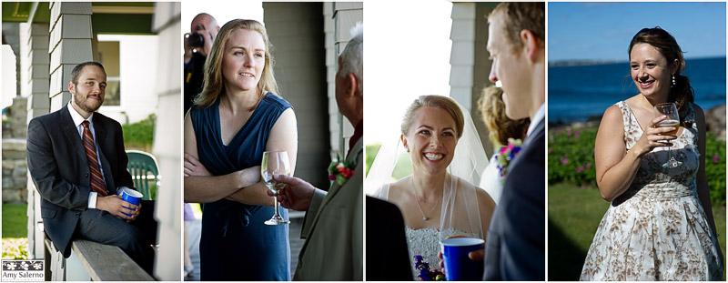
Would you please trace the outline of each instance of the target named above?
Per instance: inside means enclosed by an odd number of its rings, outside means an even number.
[[[64,257],[71,255],[73,240],[91,240],[121,248],[151,275],[154,206],[145,202],[137,207],[116,195],[119,187],[134,183],[126,171],[121,125],[95,113],[104,103],[105,89],[101,64],[86,62],[73,69],[71,102],[28,124],[28,170],[43,197],[45,233]]]

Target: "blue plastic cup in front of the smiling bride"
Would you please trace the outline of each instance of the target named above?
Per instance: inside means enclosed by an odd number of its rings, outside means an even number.
[[[445,278],[448,281],[480,281],[483,263],[468,258],[468,253],[483,248],[481,238],[448,238],[440,241]]]

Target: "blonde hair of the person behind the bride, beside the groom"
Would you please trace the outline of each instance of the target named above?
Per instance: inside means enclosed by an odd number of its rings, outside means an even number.
[[[483,123],[488,127],[488,137],[493,143],[501,146],[508,145],[508,138],[523,138],[529,128],[529,118],[511,120],[506,116],[506,105],[503,103],[503,91],[495,86],[483,89],[478,108],[483,117]]]

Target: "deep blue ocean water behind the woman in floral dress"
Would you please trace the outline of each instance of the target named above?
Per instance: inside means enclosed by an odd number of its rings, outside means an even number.
[[[695,103],[705,111],[725,104],[725,57],[689,59],[683,75],[690,78]],[[591,66],[549,67],[549,121],[584,121],[602,116],[620,100],[636,95],[627,62]]]

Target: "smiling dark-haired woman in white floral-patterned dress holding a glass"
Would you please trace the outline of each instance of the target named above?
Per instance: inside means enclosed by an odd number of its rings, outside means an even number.
[[[597,185],[611,202],[589,248],[581,280],[720,280],[718,246],[705,178],[705,116],[693,103],[685,60],[660,27],[634,35],[628,54],[640,94],[609,107],[594,157]],[[680,125],[655,127],[674,103]],[[676,136],[663,135],[677,128]],[[682,162],[665,168],[668,147]]]

